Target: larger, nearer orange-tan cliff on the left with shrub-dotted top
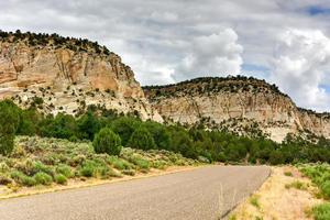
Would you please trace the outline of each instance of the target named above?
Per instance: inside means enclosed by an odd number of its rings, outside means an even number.
[[[88,105],[100,105],[162,121],[131,68],[87,40],[2,32],[0,99],[9,97],[21,106],[42,98],[43,110],[52,113],[75,113]]]

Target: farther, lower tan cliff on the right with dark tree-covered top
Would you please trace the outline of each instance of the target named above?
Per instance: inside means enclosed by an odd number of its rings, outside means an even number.
[[[198,78],[177,85],[145,87],[146,97],[166,120],[239,133],[261,130],[282,141],[287,133],[330,138],[328,114],[298,109],[276,86],[245,77]]]

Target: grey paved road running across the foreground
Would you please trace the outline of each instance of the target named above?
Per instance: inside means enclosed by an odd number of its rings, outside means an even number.
[[[1,220],[219,219],[270,168],[210,166],[164,176],[0,200]]]

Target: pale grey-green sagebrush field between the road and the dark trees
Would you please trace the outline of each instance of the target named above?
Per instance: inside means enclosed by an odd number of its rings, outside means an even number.
[[[73,143],[53,138],[16,136],[12,155],[0,155],[0,185],[63,185],[73,178],[110,179],[147,173],[151,168],[198,164],[165,150],[123,147],[120,155],[108,155],[96,154],[89,141]]]

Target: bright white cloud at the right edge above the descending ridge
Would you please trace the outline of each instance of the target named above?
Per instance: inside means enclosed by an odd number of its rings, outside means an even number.
[[[318,30],[285,31],[278,37],[272,80],[288,92],[298,106],[319,111],[329,108],[327,69],[330,61],[330,38]]]

